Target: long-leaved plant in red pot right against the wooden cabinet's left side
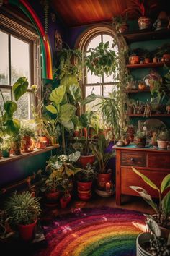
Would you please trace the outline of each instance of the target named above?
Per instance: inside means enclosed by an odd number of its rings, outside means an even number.
[[[115,157],[115,151],[107,150],[109,140],[104,135],[99,135],[97,140],[91,142],[91,150],[97,159],[95,166],[97,168],[97,187],[100,190],[106,190],[106,183],[112,182],[112,170],[107,168],[111,158]]]

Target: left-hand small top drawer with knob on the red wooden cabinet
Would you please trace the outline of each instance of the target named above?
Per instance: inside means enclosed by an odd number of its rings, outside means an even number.
[[[146,153],[121,152],[121,166],[146,166]]]

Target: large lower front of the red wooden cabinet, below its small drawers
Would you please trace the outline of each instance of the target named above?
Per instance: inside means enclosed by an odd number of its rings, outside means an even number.
[[[138,168],[137,168],[138,169]],[[158,187],[161,185],[162,179],[168,174],[168,171],[151,171],[151,170],[138,170],[140,173],[146,175]],[[152,189],[143,179],[135,174],[132,168],[121,168],[121,194],[125,195],[138,195],[133,191],[130,186],[138,186],[146,189],[151,197],[158,197],[156,189]],[[139,196],[139,195],[138,195]]]

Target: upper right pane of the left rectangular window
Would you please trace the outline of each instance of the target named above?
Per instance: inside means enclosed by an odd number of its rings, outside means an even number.
[[[30,85],[30,44],[11,37],[12,85],[19,77],[27,77]]]

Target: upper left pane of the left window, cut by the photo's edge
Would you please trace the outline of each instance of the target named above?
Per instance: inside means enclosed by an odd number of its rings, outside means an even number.
[[[0,31],[0,84],[9,85],[9,51],[8,34]]]

